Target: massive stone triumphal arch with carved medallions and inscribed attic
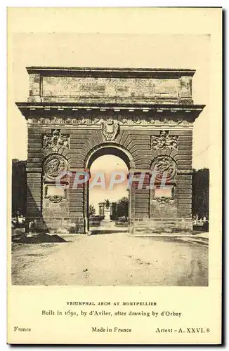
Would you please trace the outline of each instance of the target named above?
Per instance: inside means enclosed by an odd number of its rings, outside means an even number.
[[[88,232],[89,183],[72,186],[74,175],[89,171],[97,157],[114,154],[133,176],[131,234],[192,230],[192,126],[204,108],[192,100],[195,70],[27,67],[27,72],[30,95],[17,102],[28,128],[27,223],[36,219],[49,232]],[[57,187],[60,171],[66,176]],[[139,188],[136,179],[143,174]]]

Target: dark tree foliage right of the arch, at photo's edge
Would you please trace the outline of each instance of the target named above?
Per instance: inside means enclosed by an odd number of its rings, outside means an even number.
[[[209,169],[192,173],[192,216],[209,218]]]

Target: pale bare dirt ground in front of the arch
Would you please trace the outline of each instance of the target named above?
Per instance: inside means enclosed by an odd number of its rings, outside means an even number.
[[[207,286],[208,246],[124,232],[13,244],[12,284]]]

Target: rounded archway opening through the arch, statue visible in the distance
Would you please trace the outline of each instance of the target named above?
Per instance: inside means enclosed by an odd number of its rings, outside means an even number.
[[[92,234],[128,232],[131,161],[117,147],[101,147],[86,165],[90,173],[87,187],[87,230]]]

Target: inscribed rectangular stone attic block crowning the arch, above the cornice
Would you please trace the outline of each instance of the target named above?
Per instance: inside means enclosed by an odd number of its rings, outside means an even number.
[[[192,104],[194,69],[27,67],[29,102]]]

